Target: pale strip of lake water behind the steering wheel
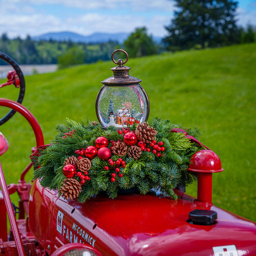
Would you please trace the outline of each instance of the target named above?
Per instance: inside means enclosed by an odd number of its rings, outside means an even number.
[[[30,74],[51,73],[57,70],[57,64],[52,65],[20,65],[24,76]],[[11,66],[0,66],[0,78],[6,78],[8,71],[13,70]]]

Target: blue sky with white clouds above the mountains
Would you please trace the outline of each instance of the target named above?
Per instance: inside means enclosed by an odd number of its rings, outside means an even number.
[[[0,34],[132,33],[146,26],[148,34],[164,37],[174,10],[174,0],[0,0]],[[237,18],[238,25],[256,26],[256,0],[239,0]]]

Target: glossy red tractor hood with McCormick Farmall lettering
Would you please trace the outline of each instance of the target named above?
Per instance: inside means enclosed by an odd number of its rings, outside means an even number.
[[[178,199],[156,193],[97,196],[81,204],[58,198],[57,191],[34,182],[30,228],[52,254],[69,242],[81,242],[103,255],[256,255],[256,223],[215,206],[213,225],[188,222],[202,205],[182,191]],[[37,225],[36,223],[41,223]]]

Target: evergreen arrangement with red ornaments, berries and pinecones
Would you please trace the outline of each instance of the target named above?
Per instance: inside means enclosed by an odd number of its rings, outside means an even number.
[[[79,202],[101,192],[116,198],[120,190],[151,189],[177,199],[174,188],[196,179],[189,172],[191,156],[200,150],[181,129],[169,120],[155,118],[149,123],[103,130],[98,122],[67,119],[57,126],[52,144],[31,156],[34,179],[42,186],[58,189],[63,198]],[[197,128],[186,133],[198,137]]]

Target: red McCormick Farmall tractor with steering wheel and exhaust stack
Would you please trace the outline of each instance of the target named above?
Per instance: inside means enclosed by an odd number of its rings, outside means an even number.
[[[20,89],[17,102],[0,98],[0,105],[11,109],[0,122],[15,111],[22,114],[34,131],[33,152],[38,153],[46,146],[38,122],[20,104],[25,92],[22,71],[6,54],[0,53],[0,57],[15,70],[7,74],[8,81],[1,87],[14,84]],[[182,129],[172,132],[190,136]],[[0,134],[0,154],[7,148],[8,142]],[[206,147],[193,154],[188,168],[198,178],[197,199],[177,187],[177,200],[150,190],[146,194],[120,193],[115,199],[98,194],[79,202],[42,186],[39,179],[26,183],[25,175],[32,166],[23,170],[18,184],[10,185],[0,166],[1,255],[256,255],[256,223],[212,204],[212,174],[223,169],[217,154]],[[20,196],[18,207],[10,201],[13,193]]]

